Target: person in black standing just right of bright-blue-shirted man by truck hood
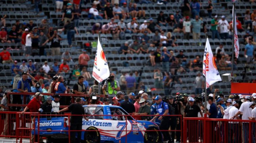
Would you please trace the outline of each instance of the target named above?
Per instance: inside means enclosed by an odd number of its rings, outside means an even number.
[[[179,112],[178,112],[178,104],[174,103],[173,102],[173,96],[169,96],[168,97],[168,100],[169,100],[169,104],[171,105],[170,107],[172,107],[172,114],[173,115],[178,115]],[[170,110],[170,109],[169,109]],[[180,126],[180,121],[181,119],[177,116],[171,116],[171,122],[170,122],[170,126],[171,126],[171,130],[175,130],[177,125]],[[175,138],[175,132],[171,132],[172,133],[172,143],[174,143],[174,138]],[[180,133],[179,132],[176,132],[176,142],[180,142]]]

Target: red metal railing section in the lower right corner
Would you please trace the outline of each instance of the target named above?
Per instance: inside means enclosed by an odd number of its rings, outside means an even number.
[[[255,120],[184,117],[183,124],[183,143],[255,143]]]

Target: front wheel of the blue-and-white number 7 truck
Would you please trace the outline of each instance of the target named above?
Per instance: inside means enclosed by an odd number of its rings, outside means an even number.
[[[155,130],[155,131],[147,131]],[[160,143],[161,142],[161,132],[157,131],[156,128],[148,128],[144,135],[144,143]]]

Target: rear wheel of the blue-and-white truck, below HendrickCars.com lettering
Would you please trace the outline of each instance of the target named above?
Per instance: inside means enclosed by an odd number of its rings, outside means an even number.
[[[89,131],[97,130],[97,131]],[[84,142],[85,143],[99,143],[100,142],[100,132],[95,127],[89,127],[84,132]]]

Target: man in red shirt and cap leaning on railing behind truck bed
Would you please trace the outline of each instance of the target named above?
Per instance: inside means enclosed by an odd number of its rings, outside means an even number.
[[[38,112],[38,109],[41,107],[42,104],[42,96],[44,96],[43,94],[41,94],[40,92],[36,92],[35,93],[35,97],[28,103],[28,105],[25,107],[24,111],[21,112],[21,114],[23,114],[24,112],[26,112],[29,109],[29,112]]]

